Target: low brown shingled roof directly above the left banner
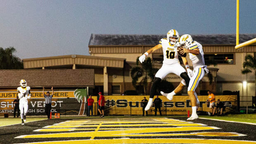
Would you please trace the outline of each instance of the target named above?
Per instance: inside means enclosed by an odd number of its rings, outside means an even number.
[[[21,79],[30,87],[94,86],[94,69],[0,70],[0,87],[19,87]]]

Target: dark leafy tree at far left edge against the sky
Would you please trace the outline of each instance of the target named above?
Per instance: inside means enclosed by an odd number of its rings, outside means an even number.
[[[0,47],[0,69],[23,69],[23,62],[14,55],[16,49]]]

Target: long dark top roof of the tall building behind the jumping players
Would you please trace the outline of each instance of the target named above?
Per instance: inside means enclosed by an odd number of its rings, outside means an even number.
[[[181,35],[180,35],[181,36]],[[157,45],[166,35],[122,35],[91,34],[89,46],[96,45]],[[235,45],[235,34],[192,35],[193,40],[202,45]],[[239,43],[256,38],[254,34],[240,34]]]

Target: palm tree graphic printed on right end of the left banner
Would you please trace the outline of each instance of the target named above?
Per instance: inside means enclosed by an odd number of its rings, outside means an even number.
[[[86,102],[86,97],[87,97],[87,89],[77,88],[74,91],[74,96],[76,97],[76,99],[79,103],[82,103],[78,115],[79,116],[84,115],[85,110],[86,110],[85,102]]]

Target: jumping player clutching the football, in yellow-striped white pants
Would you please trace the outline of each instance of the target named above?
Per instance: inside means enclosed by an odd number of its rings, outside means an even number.
[[[199,104],[199,100],[197,98],[195,90],[200,80],[204,77],[204,74],[209,73],[209,70],[207,69],[207,66],[204,63],[204,50],[199,42],[193,41],[192,36],[188,34],[182,35],[180,37],[179,42],[180,45],[185,47],[180,53],[189,53],[190,60],[192,61],[192,65],[194,68],[193,73],[190,73],[190,83],[187,87],[187,94],[190,96],[192,106],[192,115],[190,118],[187,118],[187,120],[194,120],[198,118],[197,104]],[[180,92],[183,89],[183,87],[184,85],[180,84],[173,92],[167,95],[175,95],[175,93]]]

